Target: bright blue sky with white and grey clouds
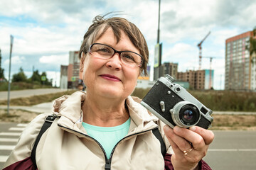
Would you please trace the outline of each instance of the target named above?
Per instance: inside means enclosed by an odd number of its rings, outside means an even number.
[[[160,37],[162,63],[178,63],[178,72],[198,69],[198,43],[202,44],[201,69],[214,69],[214,89],[224,89],[225,40],[253,30],[256,1],[161,0]],[[68,65],[69,51],[78,51],[83,35],[97,15],[115,11],[142,31],[154,65],[159,0],[8,0],[0,1],[1,67],[9,75],[10,35],[14,36],[11,75],[22,67],[27,77],[33,69],[46,72],[60,84],[60,65]]]

